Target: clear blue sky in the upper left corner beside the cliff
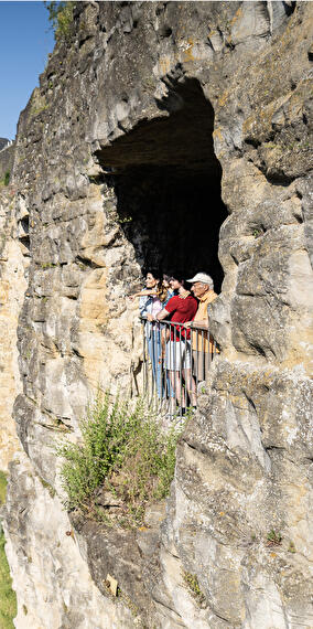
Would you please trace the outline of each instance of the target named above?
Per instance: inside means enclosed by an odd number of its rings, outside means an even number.
[[[19,115],[53,51],[43,2],[0,0],[0,137],[14,139]]]

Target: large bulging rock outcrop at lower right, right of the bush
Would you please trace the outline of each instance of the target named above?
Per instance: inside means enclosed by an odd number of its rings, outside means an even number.
[[[312,383],[220,361],[209,391],[179,448],[164,572],[170,552],[198,575],[203,626],[310,627]],[[176,571],[171,590],[179,583]]]

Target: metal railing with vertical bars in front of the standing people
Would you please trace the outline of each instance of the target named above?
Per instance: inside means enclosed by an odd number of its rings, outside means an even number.
[[[158,413],[180,417],[196,407],[217,344],[205,326],[140,319],[143,394]]]

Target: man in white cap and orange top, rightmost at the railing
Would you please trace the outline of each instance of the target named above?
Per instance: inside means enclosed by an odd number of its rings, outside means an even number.
[[[192,291],[194,296],[198,299],[198,308],[192,327],[203,327],[208,328],[208,314],[207,308],[216,299],[217,295],[214,292],[214,282],[209,275],[206,273],[197,273],[192,279],[187,279],[192,284]],[[206,379],[208,364],[209,364],[209,352],[212,352],[212,341],[213,339],[207,338],[206,331],[194,330],[193,331],[193,364],[194,374],[198,382]]]

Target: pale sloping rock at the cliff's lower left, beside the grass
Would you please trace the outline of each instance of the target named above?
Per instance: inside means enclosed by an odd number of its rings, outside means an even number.
[[[15,627],[133,627],[129,609],[101,596],[93,583],[54,489],[34,473],[24,452],[11,465],[10,482],[4,531],[19,593]]]

